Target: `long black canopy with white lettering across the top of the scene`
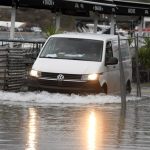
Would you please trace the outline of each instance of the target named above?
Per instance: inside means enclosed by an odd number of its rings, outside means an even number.
[[[150,0],[0,0],[0,5],[49,9],[67,15],[89,16],[89,12],[117,15],[150,15]]]

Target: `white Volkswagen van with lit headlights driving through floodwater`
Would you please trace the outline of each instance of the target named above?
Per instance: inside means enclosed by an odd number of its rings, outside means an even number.
[[[132,65],[127,40],[121,40],[121,50],[126,89],[130,92]],[[30,72],[29,89],[119,93],[118,55],[116,35],[63,33],[50,36]]]

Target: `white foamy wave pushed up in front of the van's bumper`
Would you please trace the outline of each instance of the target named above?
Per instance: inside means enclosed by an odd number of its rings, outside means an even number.
[[[141,98],[128,96],[127,101],[137,101]],[[0,102],[19,102],[35,104],[111,104],[121,103],[120,96],[112,95],[67,95],[48,92],[4,92],[0,91]]]

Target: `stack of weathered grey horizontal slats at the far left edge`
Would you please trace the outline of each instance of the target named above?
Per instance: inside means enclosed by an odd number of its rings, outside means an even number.
[[[0,50],[0,87],[7,91],[17,91],[26,76],[25,52],[23,49]]]

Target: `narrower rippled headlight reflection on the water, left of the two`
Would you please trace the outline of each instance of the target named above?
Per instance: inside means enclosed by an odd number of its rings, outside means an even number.
[[[37,148],[37,112],[35,108],[29,108],[28,137],[25,150]]]

